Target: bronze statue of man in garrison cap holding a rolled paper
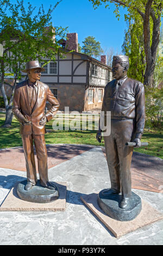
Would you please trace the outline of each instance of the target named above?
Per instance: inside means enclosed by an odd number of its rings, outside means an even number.
[[[108,162],[111,189],[107,194],[122,192],[120,208],[128,208],[131,196],[130,164],[133,147],[127,142],[134,141],[140,147],[145,127],[145,90],[139,81],[127,77],[129,58],[113,57],[112,75],[115,78],[105,86],[102,111],[111,112],[111,133],[104,136],[106,160]],[[106,120],[106,119],[105,119]],[[101,129],[97,140],[101,142]]]

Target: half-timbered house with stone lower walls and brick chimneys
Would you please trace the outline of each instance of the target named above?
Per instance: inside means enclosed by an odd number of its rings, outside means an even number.
[[[45,68],[41,81],[48,84],[60,103],[60,111],[93,111],[101,109],[104,87],[112,80],[111,68],[106,65],[106,56],[101,61],[78,52],[78,34],[67,34],[61,40],[65,53],[59,54],[55,62],[41,63]],[[70,52],[70,50],[72,52]],[[22,73],[22,80],[26,74]],[[49,104],[47,102],[47,107]]]

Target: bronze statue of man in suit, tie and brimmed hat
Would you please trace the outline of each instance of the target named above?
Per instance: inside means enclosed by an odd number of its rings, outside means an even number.
[[[26,63],[28,80],[18,83],[14,93],[13,108],[16,119],[20,122],[24,155],[26,158],[27,185],[25,190],[31,190],[37,182],[34,159],[33,141],[35,143],[40,184],[51,190],[55,186],[48,181],[47,150],[45,143],[45,124],[50,121],[59,109],[59,102],[52,94],[47,84],[40,82],[43,68],[37,60]],[[45,114],[46,101],[52,107]]]

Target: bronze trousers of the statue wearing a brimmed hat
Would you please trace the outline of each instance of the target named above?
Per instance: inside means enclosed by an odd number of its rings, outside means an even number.
[[[37,155],[40,184],[46,186],[48,181],[48,165],[44,135],[22,135],[24,156],[26,158],[27,182],[32,182],[34,185],[37,182],[33,141]]]

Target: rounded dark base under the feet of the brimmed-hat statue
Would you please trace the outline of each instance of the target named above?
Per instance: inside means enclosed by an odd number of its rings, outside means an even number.
[[[26,181],[22,181],[17,185],[17,194],[24,201],[32,203],[51,203],[59,198],[58,188],[55,190],[49,190],[46,187],[42,187],[40,182],[37,181],[37,184],[29,191],[25,190]]]

